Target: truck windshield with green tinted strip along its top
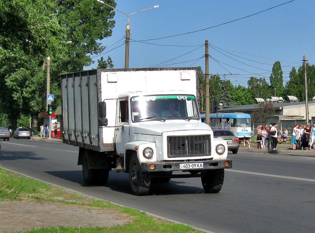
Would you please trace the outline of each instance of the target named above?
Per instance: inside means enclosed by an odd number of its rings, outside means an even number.
[[[199,120],[196,97],[192,95],[152,95],[131,98],[133,122],[146,120]]]

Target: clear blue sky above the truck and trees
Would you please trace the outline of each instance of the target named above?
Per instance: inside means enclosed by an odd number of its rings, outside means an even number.
[[[234,85],[247,86],[251,76],[265,77],[269,82],[272,65],[279,60],[285,84],[292,67],[298,68],[304,55],[310,64],[315,64],[314,1],[286,3],[289,1],[116,0],[116,8],[126,14],[160,6],[130,16],[129,68],[201,66],[205,71],[202,57],[205,40],[208,40],[211,44],[209,54],[213,58],[209,59],[210,74],[239,74],[225,77]],[[286,4],[272,8],[282,3]],[[174,36],[220,25],[268,8],[272,9],[207,30]],[[101,41],[106,50],[99,56],[93,55],[95,63],[85,69],[96,68],[101,56],[104,59],[110,56],[114,68],[124,68],[127,16],[116,11],[114,19],[116,24],[112,36]],[[167,36],[173,37],[150,40]],[[148,41],[137,42],[141,40]]]

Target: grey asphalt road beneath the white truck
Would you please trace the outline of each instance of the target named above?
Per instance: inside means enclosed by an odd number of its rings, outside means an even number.
[[[228,155],[218,194],[200,178],[152,184],[152,195],[131,194],[128,174],[111,171],[106,186],[86,186],[77,147],[57,142],[1,141],[2,168],[215,233],[315,232],[315,152]],[[290,152],[285,152],[290,153]]]

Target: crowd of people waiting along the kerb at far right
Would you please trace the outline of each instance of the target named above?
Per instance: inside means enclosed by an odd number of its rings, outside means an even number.
[[[257,140],[262,141],[262,146],[260,142],[257,142],[258,149],[266,149],[270,150],[270,144],[272,150],[277,150],[278,140],[281,140],[281,144],[283,142],[286,144],[288,137],[288,129],[284,128],[283,131],[277,129],[278,124],[272,125],[258,125],[257,127]],[[293,127],[291,143],[293,144],[293,150],[313,150],[313,143],[315,141],[315,123],[313,127],[310,124],[299,125],[296,124]],[[261,148],[262,147],[262,148]]]

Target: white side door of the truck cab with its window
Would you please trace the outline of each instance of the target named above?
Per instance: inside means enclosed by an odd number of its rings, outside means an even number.
[[[125,153],[125,144],[129,142],[128,100],[118,100],[117,122],[115,127],[116,152]]]

